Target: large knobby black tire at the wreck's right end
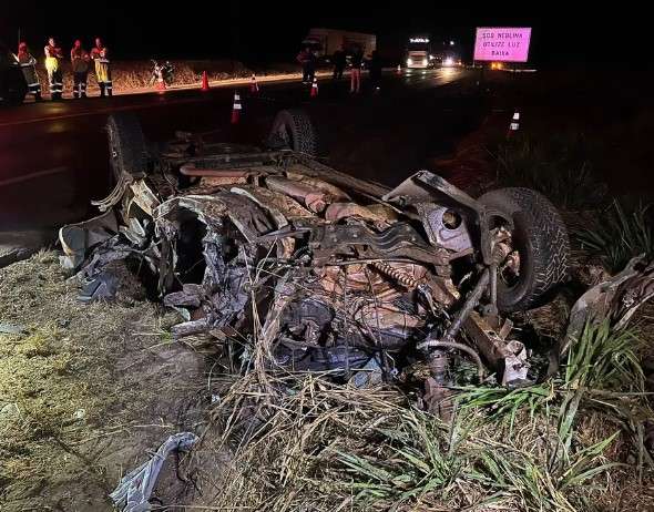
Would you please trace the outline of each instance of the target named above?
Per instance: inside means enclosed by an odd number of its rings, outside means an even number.
[[[570,240],[561,215],[531,188],[499,188],[479,202],[513,219],[512,243],[520,255],[517,280],[508,285],[498,279],[498,308],[513,313],[541,305],[568,278]]]

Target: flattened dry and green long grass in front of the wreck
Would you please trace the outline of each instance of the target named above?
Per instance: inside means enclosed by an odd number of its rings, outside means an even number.
[[[640,418],[651,412],[638,344],[633,332],[589,325],[553,381],[462,388],[451,424],[395,388],[268,376],[278,391],[273,399],[255,392],[256,377],[246,376],[215,411],[219,446],[232,448],[233,460],[207,503],[270,511],[594,510],[593,503],[615,501],[616,482],[627,492],[640,489],[638,477],[651,479],[638,437]],[[626,465],[625,453],[636,453],[638,463]]]

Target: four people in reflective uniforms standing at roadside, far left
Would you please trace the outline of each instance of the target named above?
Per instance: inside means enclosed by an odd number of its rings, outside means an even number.
[[[48,72],[48,89],[53,101],[63,96],[63,60],[64,54],[54,38],[48,40],[43,48],[45,55],[45,71]],[[41,101],[41,82],[37,72],[37,59],[30,52],[28,44],[21,42],[18,47],[18,61],[28,83],[29,92],[37,101]],[[86,98],[89,69],[93,62],[95,80],[100,86],[100,96],[113,94],[111,80],[111,62],[109,50],[100,38],[95,38],[95,45],[88,52],[79,39],[70,51],[70,62],[73,73],[73,98]]]

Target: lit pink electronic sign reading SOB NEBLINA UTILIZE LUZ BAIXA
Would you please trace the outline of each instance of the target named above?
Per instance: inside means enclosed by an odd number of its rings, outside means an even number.
[[[474,60],[527,62],[530,39],[531,28],[478,28],[474,40]]]

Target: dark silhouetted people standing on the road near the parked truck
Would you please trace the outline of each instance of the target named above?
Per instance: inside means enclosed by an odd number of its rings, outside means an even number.
[[[331,55],[331,64],[334,65],[333,78],[334,80],[343,79],[348,60],[348,53],[345,48],[340,48]],[[381,59],[377,53],[377,50],[372,51],[370,58],[366,59],[364,51],[360,47],[354,47],[349,53],[350,70],[350,93],[357,94],[361,91],[361,68],[364,62],[368,68],[368,76],[370,79],[370,85],[372,91],[378,91],[381,81]],[[297,62],[302,65],[302,82],[305,84],[311,84],[316,76],[316,65],[318,58],[316,52],[311,48],[304,48],[296,58]]]

